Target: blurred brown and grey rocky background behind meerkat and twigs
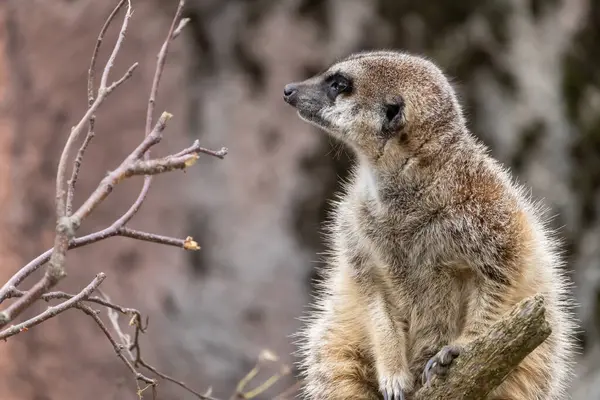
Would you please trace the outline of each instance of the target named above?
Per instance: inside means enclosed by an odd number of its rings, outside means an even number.
[[[0,1],[2,282],[52,245],[58,158],[86,110],[92,49],[115,4]],[[133,1],[112,78],[140,66],[97,114],[77,204],[140,142],[155,56],[176,6]],[[108,239],[69,252],[61,289],[78,291],[106,272],[112,300],[150,317],[147,360],[220,398],[263,349],[291,364],[290,335],[323,250],[320,227],[352,160],[297,118],[283,86],[353,51],[403,49],[442,66],[472,131],[551,207],[581,304],[583,352],[570,392],[600,398],[600,2],[188,0],[185,16],[191,22],[171,47],[157,102],[157,114],[175,117],[153,154],[200,139],[229,155],[156,177],[130,226],[191,235],[202,250]],[[140,187],[141,179],[120,185],[80,233],[110,225]],[[194,398],[169,383],[159,393]],[[0,343],[0,398],[132,399],[135,387],[91,319],[68,311]]]

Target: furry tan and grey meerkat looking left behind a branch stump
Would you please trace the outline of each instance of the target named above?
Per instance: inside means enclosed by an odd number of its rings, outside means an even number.
[[[488,398],[567,398],[576,324],[559,243],[470,133],[441,69],[403,52],[356,53],[286,85],[284,100],[357,159],[299,335],[302,397],[409,399],[542,293],[551,335]]]

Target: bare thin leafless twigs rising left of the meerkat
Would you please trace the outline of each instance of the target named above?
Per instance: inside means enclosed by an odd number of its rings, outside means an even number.
[[[83,202],[79,208],[73,208],[73,199],[75,188],[81,165],[84,160],[85,152],[90,142],[94,138],[95,113],[104,103],[104,101],[117,88],[124,84],[134,73],[137,63],[133,64],[127,72],[118,80],[110,83],[109,77],[114,61],[121,49],[121,45],[125,39],[129,20],[132,16],[131,0],[120,0],[115,6],[111,14],[108,16],[104,26],[100,30],[92,60],[88,71],[88,109],[81,120],[75,125],[68,136],[67,142],[63,148],[62,155],[57,169],[56,176],[56,234],[54,246],[39,255],[34,260],[17,271],[2,288],[0,288],[0,304],[8,299],[13,299],[12,303],[0,311],[0,339],[7,338],[25,332],[28,329],[43,323],[44,321],[57,316],[58,314],[68,309],[78,309],[92,318],[102,332],[106,335],[109,342],[114,347],[117,356],[131,370],[135,377],[138,388],[138,396],[151,388],[156,394],[157,380],[149,378],[142,374],[139,369],[143,367],[157,376],[176,383],[190,392],[194,393],[198,398],[210,399],[209,395],[200,394],[184,383],[178,382],[175,379],[164,375],[157,371],[154,367],[147,364],[142,358],[142,353],[139,345],[139,335],[144,333],[147,327],[147,321],[144,322],[141,313],[132,308],[121,307],[110,301],[108,296],[99,290],[99,286],[105,279],[105,274],[100,272],[94,280],[79,293],[72,295],[64,292],[51,292],[66,275],[65,268],[66,255],[68,250],[89,245],[100,240],[107,239],[113,236],[129,237],[137,240],[149,241],[154,243],[166,244],[170,246],[180,247],[186,250],[199,250],[200,247],[188,237],[185,239],[171,238],[167,236],[157,235],[148,232],[141,232],[128,227],[129,221],[139,211],[144,202],[152,176],[173,171],[182,170],[191,167],[200,154],[209,154],[218,158],[223,158],[227,154],[227,149],[222,148],[218,151],[205,149],[199,145],[199,142],[194,142],[190,147],[182,150],[177,154],[173,154],[164,158],[152,159],[150,157],[150,149],[158,144],[163,138],[163,132],[167,126],[171,115],[163,112],[162,115],[155,120],[154,104],[159,89],[161,75],[164,70],[165,61],[171,42],[181,33],[187,23],[187,19],[182,19],[181,14],[184,7],[184,0],[180,0],[177,6],[177,11],[171,23],[167,37],[158,53],[156,70],[148,99],[148,107],[146,113],[146,129],[141,143],[135,148],[123,162],[113,171],[108,173],[106,177],[99,183],[96,190]],[[117,14],[125,9],[125,16],[121,24],[119,36],[113,47],[108,61],[106,62],[100,77],[100,83],[95,90],[96,78],[96,60],[100,45],[104,39],[109,26],[115,20]],[[87,133],[83,140],[84,131]],[[74,146],[81,142],[79,150],[75,157],[72,157]],[[67,179],[68,166],[72,165],[70,178]],[[125,179],[143,175],[143,187],[131,207],[109,227],[98,232],[76,237],[77,230],[83,221],[110,195],[115,186]],[[27,290],[19,289],[19,285],[29,277],[33,272],[45,266],[43,277]],[[94,292],[98,292],[100,296],[93,296]],[[26,321],[16,323],[17,318],[33,303],[38,300],[47,302],[58,300],[56,305],[49,306],[45,311],[30,318]],[[108,316],[112,325],[112,330],[109,329],[99,316],[99,311],[93,306],[102,306],[108,310]],[[133,337],[125,334],[120,327],[118,318],[119,315],[127,316],[129,325],[135,327]],[[111,331],[114,331],[111,332]],[[140,385],[142,384],[142,385]]]

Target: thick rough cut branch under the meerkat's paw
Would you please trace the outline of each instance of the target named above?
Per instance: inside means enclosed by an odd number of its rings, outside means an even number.
[[[479,400],[498,387],[523,359],[552,332],[546,321],[544,297],[517,304],[488,332],[467,345],[445,379],[434,379],[416,400]]]

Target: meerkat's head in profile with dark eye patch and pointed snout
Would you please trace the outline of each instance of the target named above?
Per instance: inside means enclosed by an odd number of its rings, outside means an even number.
[[[464,124],[442,71],[426,59],[394,51],[350,55],[321,74],[286,85],[284,100],[303,120],[376,160],[387,153],[410,155]]]

